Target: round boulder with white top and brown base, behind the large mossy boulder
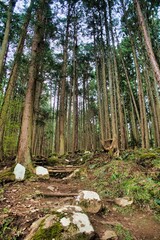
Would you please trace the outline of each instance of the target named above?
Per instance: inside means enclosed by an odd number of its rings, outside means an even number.
[[[102,201],[99,195],[93,191],[80,191],[76,198],[76,204],[89,213],[97,213],[102,208]]]

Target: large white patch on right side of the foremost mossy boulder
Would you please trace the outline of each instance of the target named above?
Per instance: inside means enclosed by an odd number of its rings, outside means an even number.
[[[72,217],[73,224],[77,225],[80,233],[91,234],[94,232],[89,218],[85,213],[74,212]]]

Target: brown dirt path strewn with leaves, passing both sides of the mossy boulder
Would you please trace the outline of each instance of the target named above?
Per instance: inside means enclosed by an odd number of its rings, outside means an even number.
[[[54,211],[55,208],[74,204],[74,194],[78,193],[79,190],[90,190],[86,189],[86,180],[50,178],[49,180],[6,184],[4,193],[1,194],[0,198],[0,224],[4,225],[5,223],[6,229],[4,235],[1,233],[0,239],[23,239],[34,220]],[[66,194],[66,196],[50,196],[60,193]],[[44,197],[43,194],[48,194],[48,197]],[[90,220],[100,237],[106,230],[116,229],[120,240],[160,239],[160,225],[155,221],[151,212],[139,212],[136,209],[128,213],[120,212],[107,199],[103,199],[103,202],[105,212],[89,214]],[[133,238],[130,238],[129,232]],[[8,238],[6,233],[10,233],[12,237]],[[13,238],[13,236],[16,236],[16,238]]]

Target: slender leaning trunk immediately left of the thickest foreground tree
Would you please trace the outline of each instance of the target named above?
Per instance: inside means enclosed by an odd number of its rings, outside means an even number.
[[[7,89],[5,92],[5,97],[4,97],[3,105],[1,108],[1,113],[0,113],[0,160],[2,160],[2,158],[3,158],[3,137],[4,137],[4,131],[5,131],[6,117],[7,117],[7,113],[8,113],[8,109],[9,109],[9,104],[11,101],[12,92],[13,92],[14,85],[15,85],[15,82],[17,79],[17,75],[18,75],[19,61],[21,59],[21,55],[23,52],[23,47],[24,47],[24,42],[26,39],[28,24],[31,19],[33,2],[34,1],[32,0],[30,7],[28,8],[27,13],[26,13],[25,22],[22,26],[21,37],[20,37],[18,47],[17,47],[16,53],[15,53],[15,60],[14,60],[13,66],[12,66],[8,86],[7,86]]]

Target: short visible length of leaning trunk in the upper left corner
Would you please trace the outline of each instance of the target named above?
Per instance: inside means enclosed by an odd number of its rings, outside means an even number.
[[[10,0],[8,12],[7,12],[7,22],[6,22],[3,41],[2,41],[2,47],[0,50],[0,84],[1,84],[1,79],[2,79],[2,75],[3,75],[3,63],[4,63],[7,46],[8,46],[10,24],[11,24],[12,13],[13,13],[15,4],[16,4],[16,0]]]

